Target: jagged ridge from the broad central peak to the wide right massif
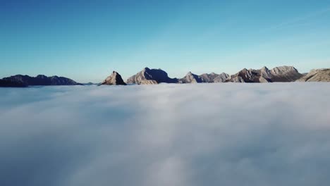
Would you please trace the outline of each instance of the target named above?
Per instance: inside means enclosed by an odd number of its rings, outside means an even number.
[[[213,83],[213,82],[294,82],[304,75],[300,74],[293,66],[279,66],[269,70],[266,66],[260,69],[244,68],[234,75],[226,73],[204,73],[196,75],[187,73],[181,79],[170,78],[164,70],[144,68],[138,74],[128,78],[130,84],[158,84],[166,83]]]

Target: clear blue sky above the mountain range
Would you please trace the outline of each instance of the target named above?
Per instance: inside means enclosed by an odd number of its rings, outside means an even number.
[[[330,0],[1,0],[0,77],[330,67]]]

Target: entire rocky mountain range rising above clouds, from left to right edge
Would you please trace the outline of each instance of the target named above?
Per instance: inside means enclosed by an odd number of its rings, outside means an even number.
[[[143,68],[139,73],[131,76],[125,82],[121,75],[113,71],[111,75],[99,83],[99,85],[155,85],[159,83],[216,83],[216,82],[330,82],[330,68],[311,70],[310,73],[299,73],[293,66],[280,66],[272,69],[263,67],[260,69],[243,68],[234,75],[227,73],[204,73],[196,75],[188,72],[185,77],[180,79],[171,78],[161,69]],[[46,86],[46,85],[93,85],[92,83],[81,84],[67,77],[37,75],[30,77],[28,75],[14,75],[0,79],[0,87],[28,87],[28,86]]]

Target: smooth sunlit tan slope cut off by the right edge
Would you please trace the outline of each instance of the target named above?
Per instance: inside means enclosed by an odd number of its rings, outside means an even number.
[[[301,77],[298,82],[330,82],[330,68],[311,70]]]

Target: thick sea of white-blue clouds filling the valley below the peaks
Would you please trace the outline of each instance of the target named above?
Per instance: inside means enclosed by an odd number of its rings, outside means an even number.
[[[330,84],[0,89],[0,185],[329,185]]]

